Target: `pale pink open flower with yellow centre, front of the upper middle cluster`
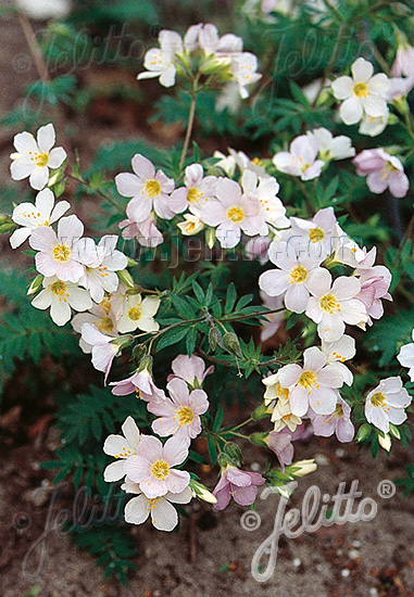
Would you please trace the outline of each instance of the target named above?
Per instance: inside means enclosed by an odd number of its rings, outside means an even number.
[[[240,186],[235,180],[221,178],[216,187],[216,198],[204,204],[201,219],[209,226],[217,226],[216,237],[223,247],[236,246],[241,232],[249,237],[267,233],[259,200],[242,195]]]

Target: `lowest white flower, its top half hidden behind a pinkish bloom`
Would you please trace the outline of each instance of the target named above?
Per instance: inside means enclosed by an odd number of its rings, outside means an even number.
[[[171,492],[164,496],[152,499],[141,493],[139,483],[127,481],[121,488],[130,494],[138,494],[125,506],[125,522],[130,524],[142,524],[151,515],[151,522],[159,531],[172,531],[178,523],[177,510],[173,504],[188,504],[192,494],[190,487],[186,487],[178,494]]]

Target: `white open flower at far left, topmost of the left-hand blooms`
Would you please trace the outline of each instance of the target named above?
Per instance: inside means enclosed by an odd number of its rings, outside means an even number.
[[[13,162],[10,172],[13,180],[29,176],[33,189],[41,190],[49,180],[49,168],[59,168],[66,157],[63,148],[54,148],[54,128],[52,124],[42,126],[37,131],[37,141],[30,132],[18,132],[14,137],[17,153],[12,153]]]

